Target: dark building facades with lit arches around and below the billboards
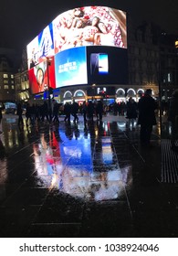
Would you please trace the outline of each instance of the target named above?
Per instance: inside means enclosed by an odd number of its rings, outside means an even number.
[[[110,104],[127,101],[129,97],[138,101],[144,91],[151,88],[155,98],[167,101],[173,90],[178,88],[175,40],[176,37],[161,33],[160,28],[152,24],[144,23],[133,28],[128,20],[128,83],[61,87],[53,90],[53,97],[63,103],[102,98]],[[1,57],[0,101],[46,100],[47,91],[33,94],[29,87],[26,50],[23,50],[22,60],[21,68],[15,72],[5,56]]]

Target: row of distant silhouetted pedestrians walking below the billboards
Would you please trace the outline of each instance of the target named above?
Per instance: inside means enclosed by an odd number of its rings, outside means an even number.
[[[74,123],[79,121],[79,113],[83,115],[84,122],[93,122],[94,116],[101,121],[102,116],[106,115],[107,108],[102,101],[83,101],[80,104],[77,101],[73,101],[66,102],[64,105],[54,101],[50,107],[47,101],[44,101],[41,105],[27,103],[26,119],[24,121],[23,106],[19,102],[16,109],[16,115],[18,116],[17,124],[19,126],[23,126],[24,124],[28,126],[35,125],[37,122],[59,123],[59,112],[62,112],[65,116],[64,121],[66,123],[70,123],[72,117]]]

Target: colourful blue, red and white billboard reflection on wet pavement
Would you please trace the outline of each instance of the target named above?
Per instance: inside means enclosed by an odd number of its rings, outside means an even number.
[[[131,166],[120,170],[110,137],[91,138],[81,132],[77,137],[73,132],[68,136],[60,129],[58,135],[59,140],[52,132],[47,143],[41,134],[40,142],[34,144],[37,174],[47,178],[49,189],[57,188],[72,197],[88,200],[119,198]]]

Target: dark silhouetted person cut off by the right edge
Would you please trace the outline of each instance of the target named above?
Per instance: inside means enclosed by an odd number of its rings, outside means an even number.
[[[172,124],[172,149],[173,151],[178,152],[178,145],[176,145],[176,140],[178,139],[178,90],[173,91],[168,110],[168,121],[170,121]]]

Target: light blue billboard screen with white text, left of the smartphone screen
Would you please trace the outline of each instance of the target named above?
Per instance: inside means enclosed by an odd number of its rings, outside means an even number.
[[[70,48],[55,56],[57,88],[75,84],[87,84],[86,48]]]

